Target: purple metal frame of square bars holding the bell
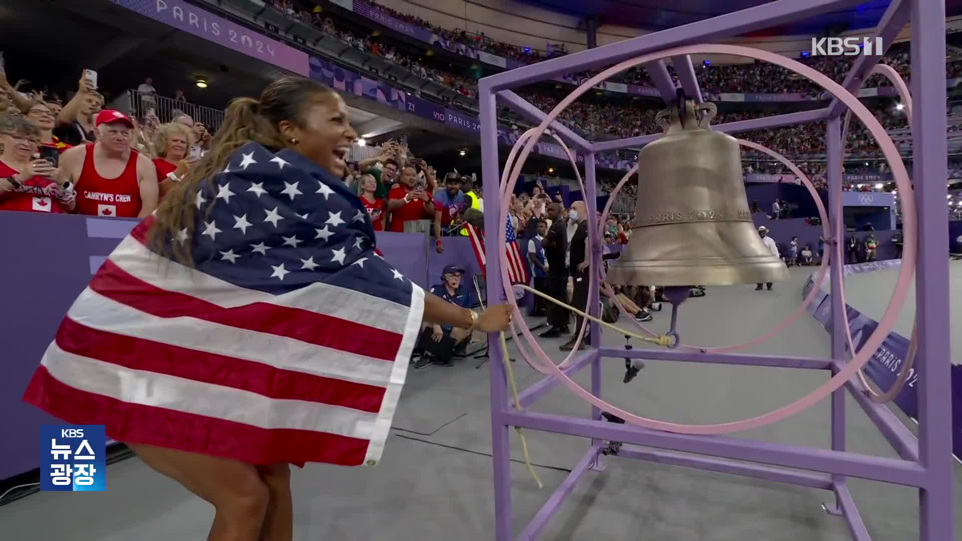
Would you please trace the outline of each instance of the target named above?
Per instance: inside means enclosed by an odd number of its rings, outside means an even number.
[[[714,39],[744,34],[752,30],[768,28],[779,23],[802,19],[832,10],[844,9],[861,0],[777,0],[740,12],[727,13],[677,28],[671,28],[635,39],[597,47],[577,54],[547,62],[525,66],[512,71],[486,77],[479,82],[478,94],[481,112],[481,155],[483,181],[487,186],[499,183],[497,155],[497,129],[495,103],[502,104],[528,116],[535,121],[544,119],[544,113],[521,99],[509,89],[573,73],[615,64],[638,55],[656,50],[706,42]],[[918,308],[920,348],[916,362],[919,370],[919,438],[912,436],[899,419],[887,407],[866,399],[858,381],[848,382],[848,392],[865,410],[881,433],[899,452],[901,459],[882,458],[857,454],[845,450],[845,393],[836,391],[831,398],[831,450],[778,445],[768,442],[748,441],[725,436],[701,436],[675,434],[649,430],[634,425],[614,425],[600,421],[600,411],[592,407],[588,418],[565,417],[533,413],[524,408],[554,388],[558,381],[551,377],[535,383],[520,394],[520,408],[508,398],[507,381],[501,350],[497,338],[489,337],[491,348],[491,410],[492,440],[494,448],[494,502],[495,537],[497,541],[515,538],[511,506],[511,474],[508,447],[508,428],[523,426],[591,438],[588,450],[571,470],[532,521],[519,533],[518,539],[534,539],[547,525],[555,510],[578,479],[589,469],[599,470],[600,451],[605,441],[626,444],[619,456],[640,458],[665,464],[688,466],[702,470],[723,472],[747,477],[793,483],[822,488],[835,494],[835,503],[825,506],[832,513],[843,516],[853,539],[870,539],[868,530],[848,491],[846,477],[863,477],[884,482],[898,483],[919,488],[920,527],[923,541],[942,541],[953,535],[952,517],[952,468],[951,426],[949,419],[949,303],[944,292],[949,285],[949,265],[945,246],[948,245],[946,220],[946,73],[941,63],[924,62],[928,58],[942,58],[945,54],[945,5],[937,0],[894,0],[882,16],[874,35],[883,38],[888,45],[902,26],[911,18],[913,29],[924,32],[912,33],[912,96],[914,110],[913,138],[916,149],[914,178],[919,208],[919,250],[916,299]],[[866,73],[877,63],[879,57],[861,57],[852,67],[845,80],[847,90],[857,90]],[[679,82],[689,96],[700,98],[695,70],[688,57],[675,57],[672,63],[678,68]],[[647,64],[652,78],[666,100],[674,97],[674,87],[663,61]],[[790,115],[772,116],[715,127],[716,130],[734,133],[759,128],[769,128],[825,120],[828,130],[828,180],[831,193],[835,195],[830,217],[835,235],[840,236],[841,220],[841,174],[842,142],[840,141],[839,116],[845,107],[838,100],[821,110]],[[569,129],[553,124],[555,133],[585,154],[586,201],[594,251],[595,266],[601,265],[595,224],[595,152],[632,145],[644,144],[658,136],[623,139],[616,142],[587,142]],[[924,182],[920,181],[924,180]],[[485,225],[493,230],[497,226],[498,201],[488,201]],[[500,264],[499,241],[491,236],[487,240],[489,265]],[[835,258],[834,262],[840,261]],[[832,273],[832,290],[838,291],[841,278]],[[488,273],[488,291],[501,292],[501,276]],[[502,294],[503,295],[503,294]],[[597,291],[589,300],[593,312],[597,312]],[[503,299],[503,297],[502,297]],[[838,314],[844,310],[841,298],[834,296],[832,310]],[[827,370],[836,373],[847,361],[842,318],[833,318],[831,358],[813,359],[801,357],[774,357],[747,354],[689,353],[672,350],[633,350],[592,348],[580,355],[567,370],[573,374],[591,365],[592,392],[601,393],[600,363],[602,357],[645,357],[687,362],[709,362],[783,368]],[[600,328],[592,324],[593,335],[600,336]],[[595,341],[597,344],[597,341]],[[748,462],[754,462],[750,464]]]

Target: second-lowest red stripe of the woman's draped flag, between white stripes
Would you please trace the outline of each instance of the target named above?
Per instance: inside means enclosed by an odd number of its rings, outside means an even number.
[[[233,387],[272,399],[307,400],[377,413],[385,392],[374,385],[115,334],[70,318],[61,322],[56,342],[64,351],[106,363]]]

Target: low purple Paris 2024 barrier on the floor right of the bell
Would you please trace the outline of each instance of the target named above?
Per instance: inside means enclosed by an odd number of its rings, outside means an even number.
[[[873,270],[893,269],[901,265],[901,260],[875,261],[872,263],[861,263],[858,265],[847,265],[843,273],[845,275],[858,274],[861,272],[871,272]],[[827,276],[826,276],[827,278]],[[805,291],[814,287],[815,273],[812,273],[805,284]],[[831,295],[825,291],[828,287],[828,280],[823,284],[822,294],[824,295],[822,305],[816,309],[815,319],[821,322],[825,329],[831,332]],[[848,329],[851,332],[851,342],[856,350],[862,348],[869,337],[872,336],[878,322],[869,316],[862,314],[846,305],[848,313]],[[875,350],[872,358],[865,365],[865,373],[872,378],[875,385],[881,389],[889,389],[899,378],[902,363],[908,355],[909,341],[897,332],[890,332],[882,345]],[[848,348],[847,348],[848,349]],[[919,365],[909,369],[908,379],[905,387],[895,398],[896,404],[902,412],[912,419],[919,418],[919,397],[918,379]],[[951,401],[952,401],[952,452],[956,457],[962,457],[962,365],[951,367]]]

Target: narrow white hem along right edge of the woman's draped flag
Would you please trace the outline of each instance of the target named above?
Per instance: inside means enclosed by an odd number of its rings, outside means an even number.
[[[408,374],[411,353],[414,351],[420,335],[421,320],[424,314],[424,290],[414,283],[411,286],[411,310],[408,311],[401,346],[397,348],[397,355],[394,357],[391,380],[384,392],[384,398],[381,399],[381,410],[377,414],[377,421],[374,422],[373,433],[370,442],[367,444],[365,464],[373,465],[381,459],[381,454],[384,452],[384,444],[387,442],[388,433],[391,431],[394,412],[397,411],[397,401],[401,398],[401,388],[404,386],[404,379]]]

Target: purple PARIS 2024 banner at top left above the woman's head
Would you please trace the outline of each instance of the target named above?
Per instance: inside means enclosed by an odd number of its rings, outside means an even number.
[[[181,0],[111,0],[114,4],[163,22],[198,38],[213,41],[247,56],[308,74],[308,55],[276,39],[253,32],[214,13]]]

